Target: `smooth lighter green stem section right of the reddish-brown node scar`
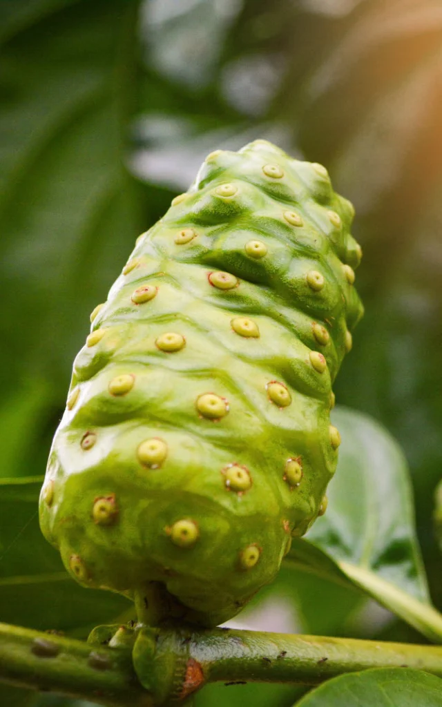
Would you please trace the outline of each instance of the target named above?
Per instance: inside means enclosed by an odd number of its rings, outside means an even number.
[[[350,638],[216,630],[195,634],[190,656],[202,665],[207,682],[313,685],[372,667],[412,667],[442,677],[439,646]]]

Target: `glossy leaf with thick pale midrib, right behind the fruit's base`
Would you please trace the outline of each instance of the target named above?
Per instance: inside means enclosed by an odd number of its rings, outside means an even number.
[[[429,603],[415,537],[405,458],[367,416],[337,409],[332,417],[342,446],[327,513],[307,540],[293,542],[287,562],[353,583],[431,640],[442,641],[442,616]]]

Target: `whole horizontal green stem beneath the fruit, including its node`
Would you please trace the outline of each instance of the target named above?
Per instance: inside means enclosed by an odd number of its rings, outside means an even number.
[[[442,677],[440,646],[188,627],[141,626],[134,633],[144,655],[141,679],[159,686],[157,703],[172,691],[188,696],[209,682],[314,685],[371,667],[407,666]],[[151,653],[142,652],[144,636],[155,638]],[[175,673],[168,675],[167,665],[176,665]],[[107,707],[155,704],[136,676],[129,643],[110,648],[6,624],[0,624],[0,681]]]

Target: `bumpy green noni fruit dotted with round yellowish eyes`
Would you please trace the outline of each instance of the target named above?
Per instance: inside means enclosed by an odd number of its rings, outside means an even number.
[[[325,510],[332,381],[363,311],[353,216],[322,165],[257,140],[211,153],[136,240],[42,489],[42,531],[81,584],[161,583],[219,624]]]

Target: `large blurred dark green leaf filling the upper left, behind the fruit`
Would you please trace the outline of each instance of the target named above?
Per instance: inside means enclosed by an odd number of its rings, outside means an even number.
[[[138,2],[18,0],[0,31],[4,395],[69,367],[141,230],[124,170]],[[2,4],[5,9],[5,3]]]

